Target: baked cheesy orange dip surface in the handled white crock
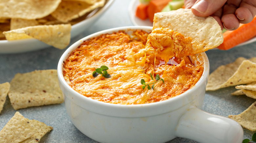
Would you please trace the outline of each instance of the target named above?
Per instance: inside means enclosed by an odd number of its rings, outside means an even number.
[[[160,56],[144,52],[148,34],[119,31],[84,41],[64,61],[66,82],[86,97],[115,104],[159,102],[193,87],[203,74],[203,62],[196,61],[197,56],[174,57],[165,67]],[[93,77],[95,68],[103,65],[111,77]],[[142,89],[141,79],[146,84],[154,82],[150,73],[154,77],[159,74],[164,84],[157,82],[154,89]]]

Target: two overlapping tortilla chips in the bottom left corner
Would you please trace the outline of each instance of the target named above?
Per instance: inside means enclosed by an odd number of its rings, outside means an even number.
[[[53,127],[47,126],[45,123],[37,120],[26,119],[19,112],[16,112],[0,131],[0,142],[39,142],[51,130],[53,130]]]

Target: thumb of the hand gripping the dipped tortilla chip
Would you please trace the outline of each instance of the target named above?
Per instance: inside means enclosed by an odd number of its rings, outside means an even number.
[[[223,7],[226,1],[227,0],[197,0],[191,10],[196,16],[210,16]]]

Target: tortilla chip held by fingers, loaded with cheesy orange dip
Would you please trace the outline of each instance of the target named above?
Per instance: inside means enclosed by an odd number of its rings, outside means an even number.
[[[148,36],[145,52],[169,60],[174,56],[205,52],[222,42],[221,27],[213,17],[198,17],[191,9],[180,8],[155,13],[153,31]]]

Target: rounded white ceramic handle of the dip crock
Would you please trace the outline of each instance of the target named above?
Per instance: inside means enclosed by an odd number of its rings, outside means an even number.
[[[244,132],[235,120],[192,106],[181,116],[176,135],[202,143],[242,143]]]

